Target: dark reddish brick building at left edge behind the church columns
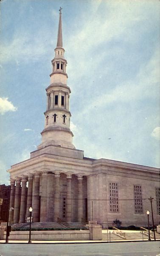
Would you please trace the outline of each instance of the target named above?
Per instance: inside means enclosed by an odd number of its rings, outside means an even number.
[[[3,204],[0,204],[0,221],[7,221],[7,211],[9,204],[10,186],[0,185],[0,198],[3,199]]]

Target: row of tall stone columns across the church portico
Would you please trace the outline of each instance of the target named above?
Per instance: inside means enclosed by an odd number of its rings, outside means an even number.
[[[33,208],[34,222],[57,221],[60,218],[60,172],[30,174],[28,176],[11,179],[9,222],[24,223],[29,216],[29,208]],[[66,221],[72,221],[72,177],[73,174],[65,173],[67,179],[66,188]],[[77,221],[84,216],[84,198],[82,180],[83,175],[77,174],[78,197]],[[41,182],[40,182],[41,179]],[[28,188],[26,186],[28,181]],[[15,186],[16,183],[16,186]],[[41,189],[40,189],[41,183]],[[41,192],[40,192],[41,190]]]

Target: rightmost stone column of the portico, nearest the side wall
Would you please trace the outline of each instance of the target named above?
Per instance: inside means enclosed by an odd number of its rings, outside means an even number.
[[[83,175],[79,174],[77,175],[78,180],[78,221],[81,222],[81,219],[83,218],[83,187],[82,187],[82,180]]]

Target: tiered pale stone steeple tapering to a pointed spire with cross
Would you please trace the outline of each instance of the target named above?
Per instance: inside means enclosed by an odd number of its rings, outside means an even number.
[[[39,148],[56,145],[64,148],[74,148],[73,133],[70,131],[69,98],[70,87],[67,86],[65,49],[62,47],[62,8],[59,9],[59,29],[55,56],[52,63],[51,83],[46,88],[47,110],[45,111],[45,128],[42,131],[42,143]]]

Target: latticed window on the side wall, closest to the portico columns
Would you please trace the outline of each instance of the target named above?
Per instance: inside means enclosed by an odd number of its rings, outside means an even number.
[[[109,202],[110,211],[119,212],[118,209],[118,184],[110,182],[109,183]]]

